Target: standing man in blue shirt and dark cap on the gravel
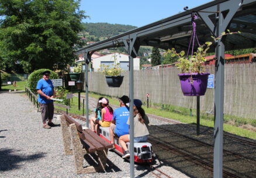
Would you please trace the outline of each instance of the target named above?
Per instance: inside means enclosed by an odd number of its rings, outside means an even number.
[[[43,128],[51,128],[56,126],[53,124],[53,113],[54,113],[54,106],[53,97],[55,97],[55,91],[53,87],[53,83],[49,79],[50,71],[44,71],[42,73],[43,78],[41,78],[37,82],[37,93],[39,94],[37,101],[40,103],[41,109],[41,118],[43,120]],[[48,120],[48,124],[46,121]]]

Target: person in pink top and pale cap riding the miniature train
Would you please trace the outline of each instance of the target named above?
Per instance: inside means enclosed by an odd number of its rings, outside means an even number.
[[[91,118],[91,126],[93,128],[94,124],[99,124],[101,125],[101,127],[109,127],[113,118],[113,109],[109,106],[109,100],[105,97],[99,100],[99,103],[102,103],[103,106],[101,110],[101,120],[99,120],[98,118]]]

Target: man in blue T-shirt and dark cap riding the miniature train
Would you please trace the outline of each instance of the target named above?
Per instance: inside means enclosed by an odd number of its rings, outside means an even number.
[[[129,107],[127,107],[126,103],[129,103],[129,97],[123,95],[119,98],[120,107],[115,109],[113,113],[112,123],[109,127],[110,141],[113,148],[115,148],[114,134],[117,137],[129,134],[129,125],[127,124],[127,120],[129,118]]]

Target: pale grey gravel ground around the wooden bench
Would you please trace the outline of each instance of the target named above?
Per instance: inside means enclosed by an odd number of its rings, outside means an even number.
[[[76,174],[73,156],[64,155],[60,121],[58,127],[42,128],[40,113],[20,93],[0,93],[0,177],[130,177],[129,162],[108,153],[105,173]],[[161,167],[161,163],[154,166]],[[172,177],[187,177],[162,165]],[[155,177],[135,165],[135,176]]]

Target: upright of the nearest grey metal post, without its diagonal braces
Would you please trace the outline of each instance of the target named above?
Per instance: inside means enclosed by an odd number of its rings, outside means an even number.
[[[220,7],[218,5],[217,11]],[[223,16],[218,14],[217,36],[222,33]],[[217,40],[216,62],[215,62],[215,130],[214,130],[214,149],[213,149],[213,177],[223,177],[223,104],[224,104],[224,44]]]

